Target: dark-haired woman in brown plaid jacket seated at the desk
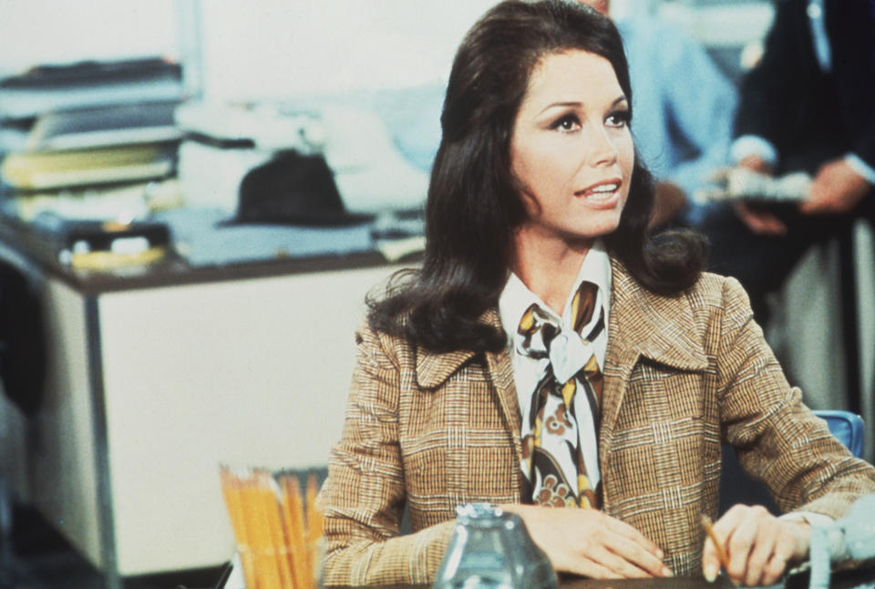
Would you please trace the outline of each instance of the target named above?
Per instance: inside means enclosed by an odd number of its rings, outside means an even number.
[[[787,385],[740,287],[700,273],[705,244],[646,236],[631,98],[620,37],[582,5],[509,0],[468,32],[424,265],[356,335],[325,584],[430,582],[468,501],[518,512],[559,571],[713,577],[699,522],[715,516],[721,440],[805,512],[736,506],[715,524],[740,583],[805,557],[802,517],[875,490]],[[405,504],[413,533],[398,536]]]

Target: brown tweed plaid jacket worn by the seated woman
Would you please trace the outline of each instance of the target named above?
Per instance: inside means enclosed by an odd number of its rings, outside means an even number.
[[[612,266],[602,509],[659,545],[675,574],[699,567],[722,442],[785,511],[838,517],[875,491],[875,470],[787,384],[735,280],[703,274],[666,297]],[[499,325],[496,311],[484,320]],[[430,583],[458,505],[520,501],[510,355],[433,354],[366,325],[356,341],[345,428],[320,497],[324,583]],[[413,533],[398,535],[405,502]]]

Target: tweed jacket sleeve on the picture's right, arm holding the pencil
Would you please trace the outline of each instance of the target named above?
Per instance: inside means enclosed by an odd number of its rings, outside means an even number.
[[[782,511],[840,517],[861,495],[875,492],[875,469],[854,458],[826,423],[790,387],[747,295],[726,279],[717,370],[724,441],[742,468],[764,480]]]

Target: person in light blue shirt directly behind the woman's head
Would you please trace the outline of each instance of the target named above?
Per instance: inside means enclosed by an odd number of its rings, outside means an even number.
[[[609,15],[609,0],[579,0]],[[656,178],[654,226],[695,226],[706,205],[692,201],[725,167],[736,88],[684,30],[653,15],[616,22],[635,92],[635,147]]]

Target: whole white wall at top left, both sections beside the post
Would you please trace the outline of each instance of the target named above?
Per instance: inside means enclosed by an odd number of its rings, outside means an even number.
[[[200,12],[205,93],[273,98],[446,77],[495,0],[0,0],[0,75],[38,63],[189,50]]]

